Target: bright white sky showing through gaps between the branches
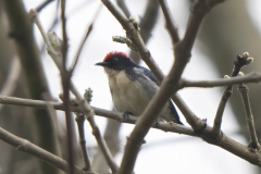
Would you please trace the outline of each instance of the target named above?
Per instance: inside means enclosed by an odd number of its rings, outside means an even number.
[[[36,8],[44,0],[24,0],[26,10]],[[127,0],[126,0],[127,1]],[[114,1],[113,1],[114,2]],[[260,0],[248,0],[246,4],[261,30],[261,13]],[[115,3],[115,2],[114,2]],[[132,0],[127,1],[127,7],[133,15],[137,18],[142,15],[144,8],[147,1]],[[169,1],[175,22],[179,27],[181,36],[183,36],[184,28],[188,18],[188,8],[184,0]],[[69,32],[69,58],[75,55],[78,48],[79,40],[83,38],[86,27],[90,24],[95,12],[101,4],[99,0],[67,0],[67,32]],[[219,5],[225,5],[219,4]],[[39,16],[46,30],[50,27],[54,17],[55,3],[52,2],[44,9]],[[256,18],[254,18],[256,17]],[[259,18],[258,18],[259,17]],[[61,36],[61,28],[58,25],[54,32]],[[94,98],[91,105],[108,109],[112,108],[111,95],[109,91],[107,76],[103,70],[94,64],[102,61],[104,55],[110,51],[123,51],[128,53],[129,49],[121,44],[112,41],[112,36],[122,35],[125,32],[117,21],[111,15],[107,8],[102,8],[96,23],[94,30],[88,38],[85,48],[82,52],[80,60],[74,73],[73,80],[80,92],[90,87],[94,90]],[[37,28],[35,35],[39,46],[42,45],[42,39]],[[197,41],[196,41],[197,45]],[[173,62],[172,45],[167,32],[164,28],[164,20],[160,11],[158,25],[152,32],[152,37],[148,44],[148,48],[160,65],[162,71],[166,74]],[[200,63],[199,63],[200,62]],[[203,63],[202,63],[203,62]],[[61,80],[59,72],[52,60],[45,54],[42,63],[46,75],[48,77],[49,87],[52,96],[58,98],[61,90]],[[142,65],[145,65],[142,63]],[[202,55],[197,49],[192,50],[192,58],[188,63],[184,77],[189,79],[213,79],[219,78],[213,71],[215,67],[211,62]],[[190,107],[190,109],[200,117],[208,119],[208,124],[212,125],[215,111],[221,98],[222,88],[188,88],[179,91],[181,96]],[[223,132],[235,140],[247,145],[240,135],[237,135],[238,126],[233,119],[229,105],[226,108],[222,124]],[[63,121],[63,113],[59,112],[60,121]],[[181,114],[183,123],[186,123]],[[96,116],[96,121],[103,132],[105,127],[105,120]],[[124,150],[125,139],[129,136],[133,125],[124,124],[121,128],[121,152]],[[96,146],[96,140],[91,135],[88,124],[86,124],[87,146]],[[251,173],[256,167],[252,164],[241,160],[240,158],[209,144],[203,142],[199,138],[188,137],[184,135],[164,133],[162,130],[151,129],[146,136],[147,144],[138,156],[135,172],[137,174],[220,174],[220,173]],[[122,153],[116,157],[120,163]],[[153,166],[153,167],[151,167]]]

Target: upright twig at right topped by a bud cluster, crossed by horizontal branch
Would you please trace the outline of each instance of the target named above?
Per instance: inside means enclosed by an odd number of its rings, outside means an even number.
[[[252,62],[252,58],[249,58],[249,54],[247,52],[244,52],[243,55],[237,54],[236,60],[234,62],[234,69],[232,71],[231,77],[237,76],[241,67],[247,64],[250,64],[251,62]],[[222,98],[215,114],[215,119],[214,119],[212,136],[215,138],[220,136],[223,112],[227,103],[227,100],[229,99],[232,94],[233,94],[233,85],[228,85],[224,89],[224,92],[222,95]]]

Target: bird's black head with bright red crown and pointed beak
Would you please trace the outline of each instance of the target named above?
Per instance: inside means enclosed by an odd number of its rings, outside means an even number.
[[[110,52],[103,59],[103,62],[96,63],[103,67],[109,67],[114,71],[123,71],[128,67],[137,66],[127,55],[123,52]]]

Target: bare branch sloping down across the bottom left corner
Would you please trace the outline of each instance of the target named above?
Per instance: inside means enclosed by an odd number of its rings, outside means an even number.
[[[30,141],[20,138],[5,129],[0,127],[0,139],[5,141],[7,144],[12,145],[16,150],[26,152],[32,154],[46,163],[49,163],[66,173],[69,173],[69,164],[63,159],[52,154],[51,152],[39,148],[38,146],[32,144]],[[73,166],[77,174],[84,174],[85,172],[82,171],[78,166]]]

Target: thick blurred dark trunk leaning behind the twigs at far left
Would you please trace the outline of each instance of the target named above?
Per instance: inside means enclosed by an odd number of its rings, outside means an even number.
[[[3,0],[3,8],[10,24],[10,38],[14,39],[17,57],[25,73],[26,85],[33,99],[41,99],[44,91],[49,91],[40,63],[39,50],[33,36],[33,27],[22,0]],[[34,110],[37,140],[40,147],[57,154],[57,139],[53,123],[48,112]],[[48,136],[47,136],[48,135]],[[44,173],[58,173],[57,169],[41,163]]]

